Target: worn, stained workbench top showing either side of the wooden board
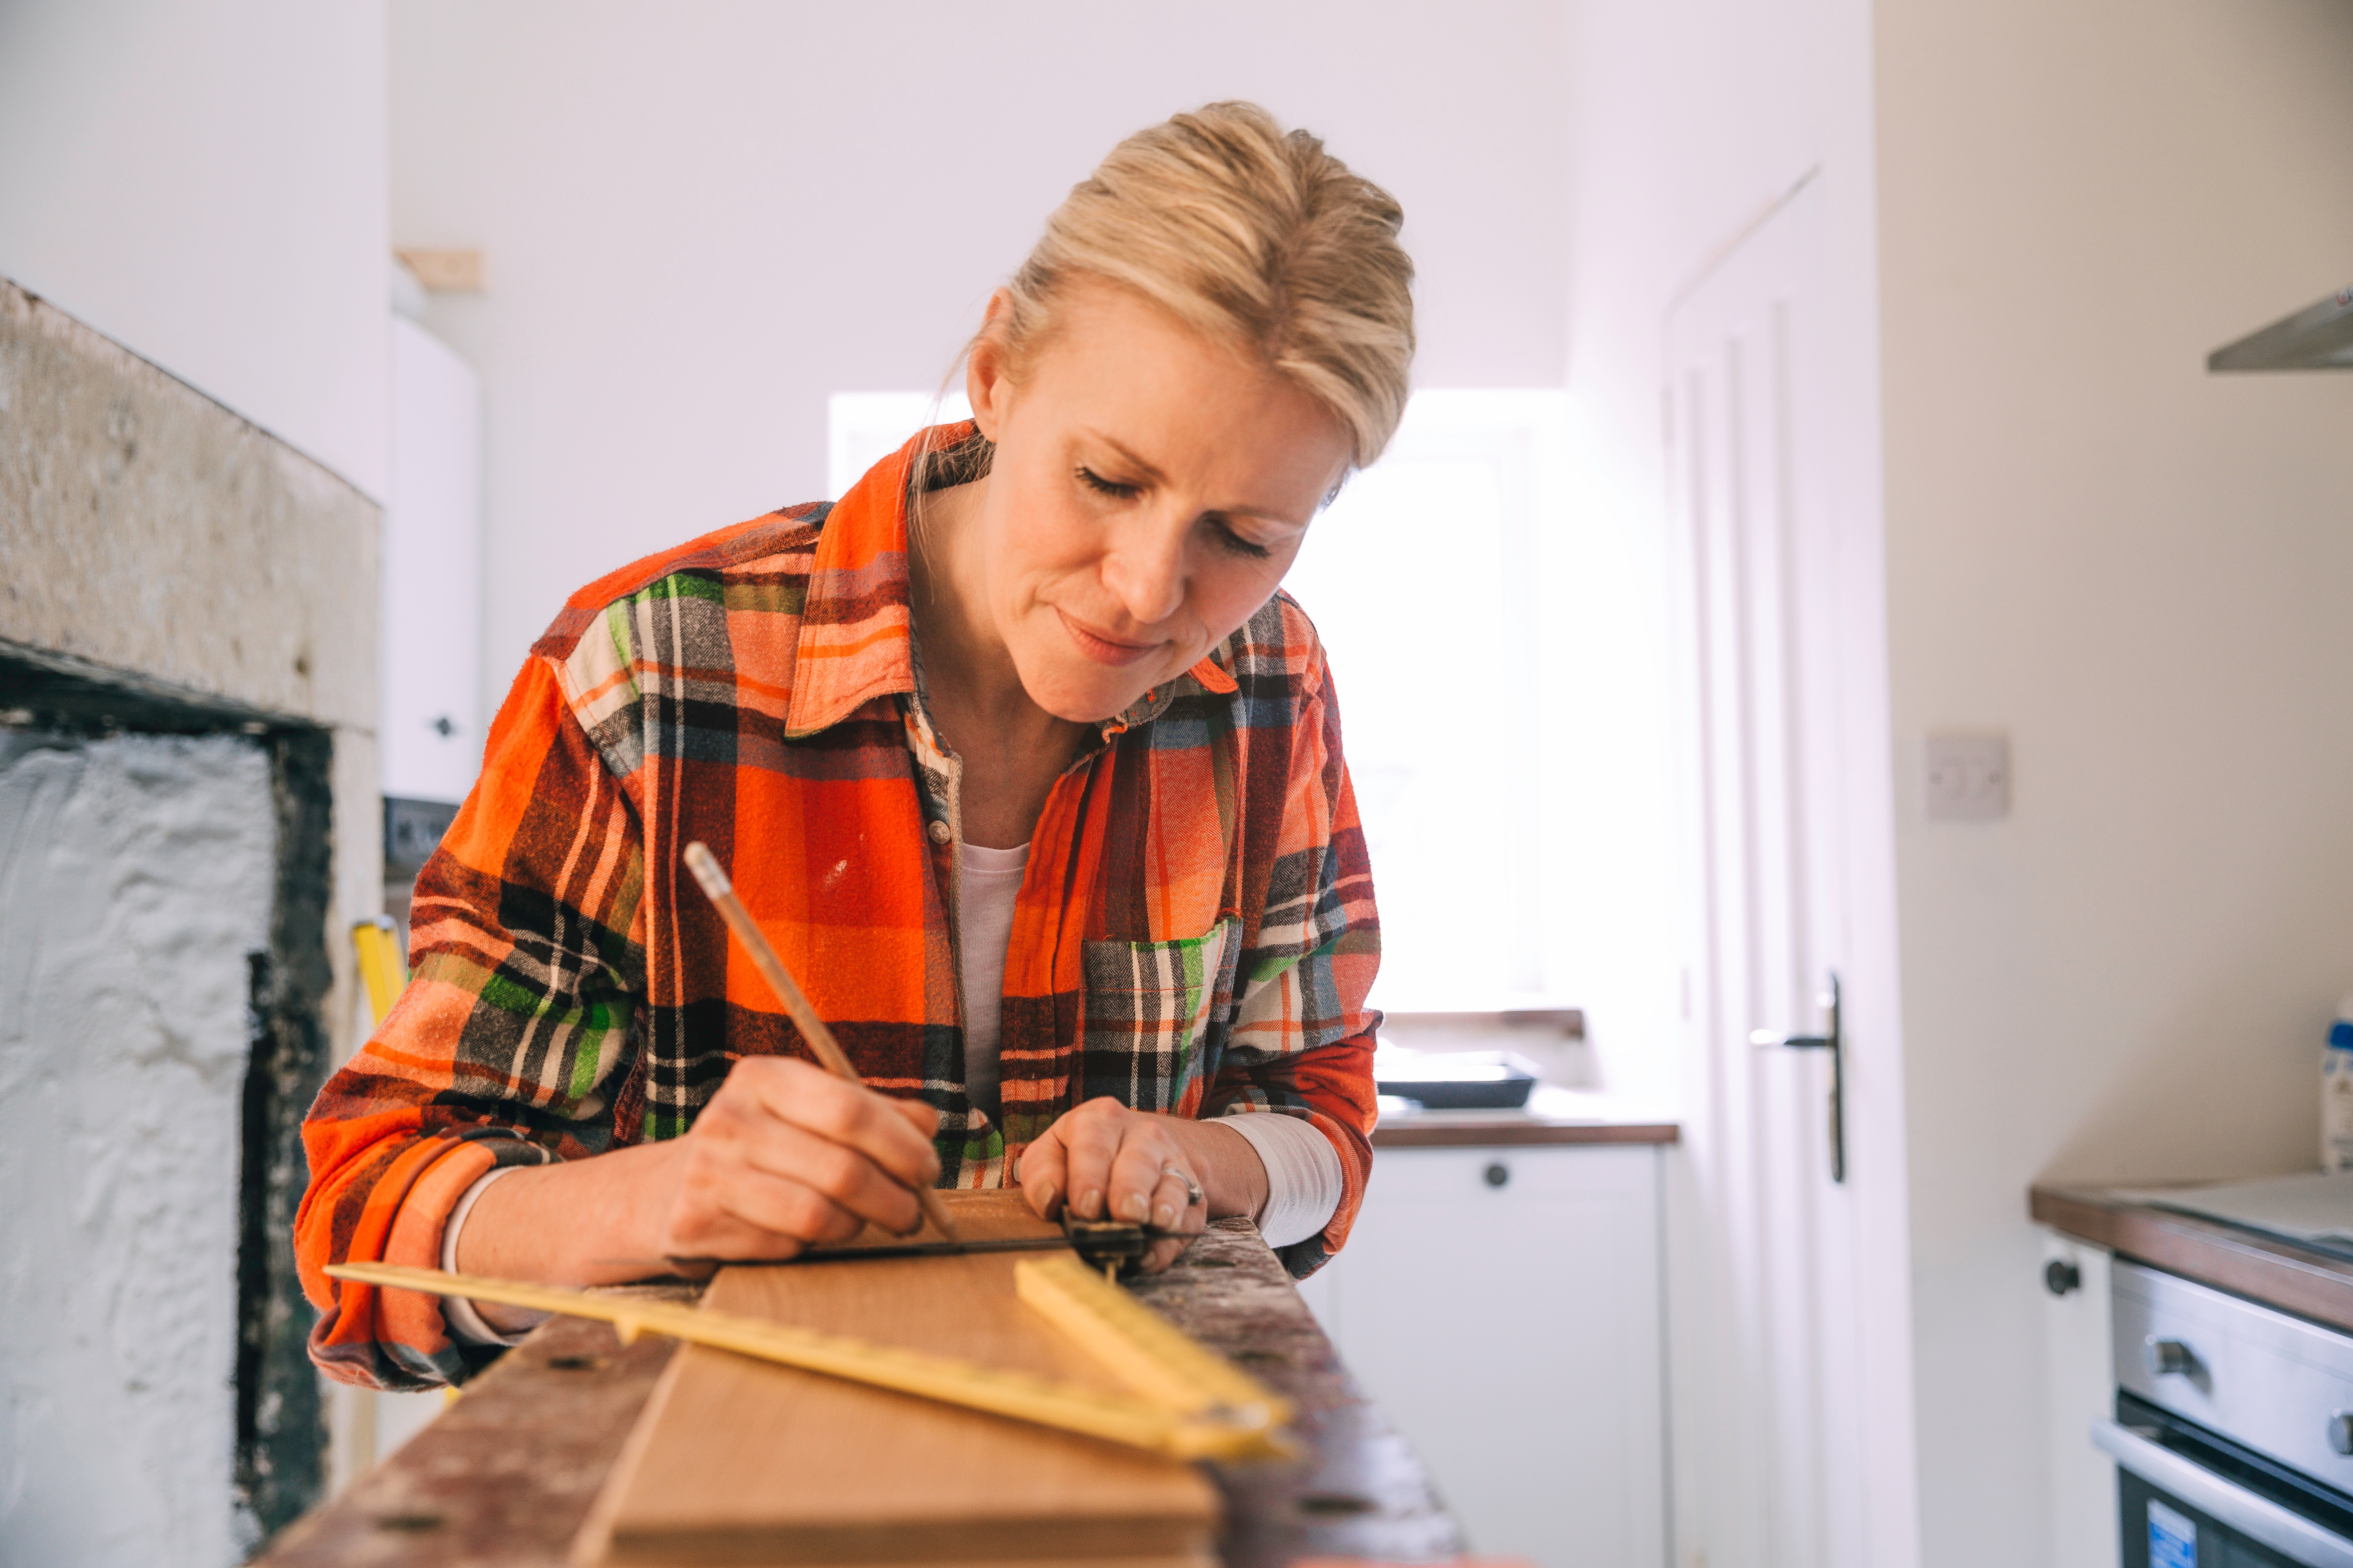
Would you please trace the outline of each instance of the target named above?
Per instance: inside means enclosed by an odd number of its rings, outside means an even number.
[[[647,1286],[673,1295],[692,1286]],[[1442,1561],[1464,1549],[1414,1450],[1365,1399],[1249,1220],[1217,1220],[1136,1295],[1299,1406],[1308,1460],[1209,1467],[1228,1568],[1301,1556]],[[675,1342],[624,1347],[551,1319],[341,1497],[287,1526],[268,1568],[560,1568]]]

